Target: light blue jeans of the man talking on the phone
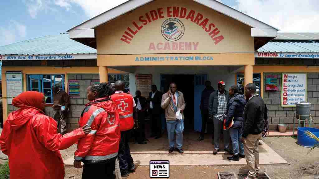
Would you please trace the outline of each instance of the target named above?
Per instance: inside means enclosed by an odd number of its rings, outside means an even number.
[[[169,148],[174,148],[176,132],[176,148],[181,149],[183,145],[184,120],[175,120],[175,122],[167,122],[167,136]]]

